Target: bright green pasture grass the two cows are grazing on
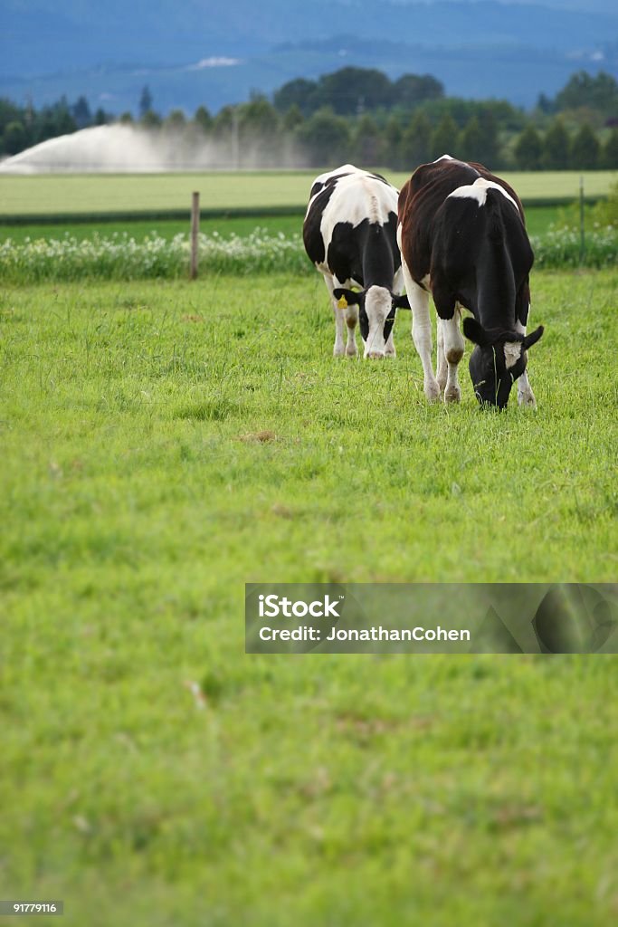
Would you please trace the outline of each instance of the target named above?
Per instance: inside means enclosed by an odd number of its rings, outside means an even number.
[[[533,298],[539,408],[496,415],[465,364],[426,405],[403,314],[334,362],[317,274],[4,288],[2,897],[615,919],[615,657],[243,654],[245,581],[615,579],[615,274]]]

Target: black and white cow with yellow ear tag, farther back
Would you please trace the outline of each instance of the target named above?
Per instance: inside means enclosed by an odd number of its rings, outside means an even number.
[[[311,187],[303,241],[333,303],[334,356],[344,351],[356,354],[360,322],[364,356],[394,357],[395,313],[397,307],[410,308],[408,299],[400,295],[396,188],[380,174],[360,171],[352,164],[321,174]]]

